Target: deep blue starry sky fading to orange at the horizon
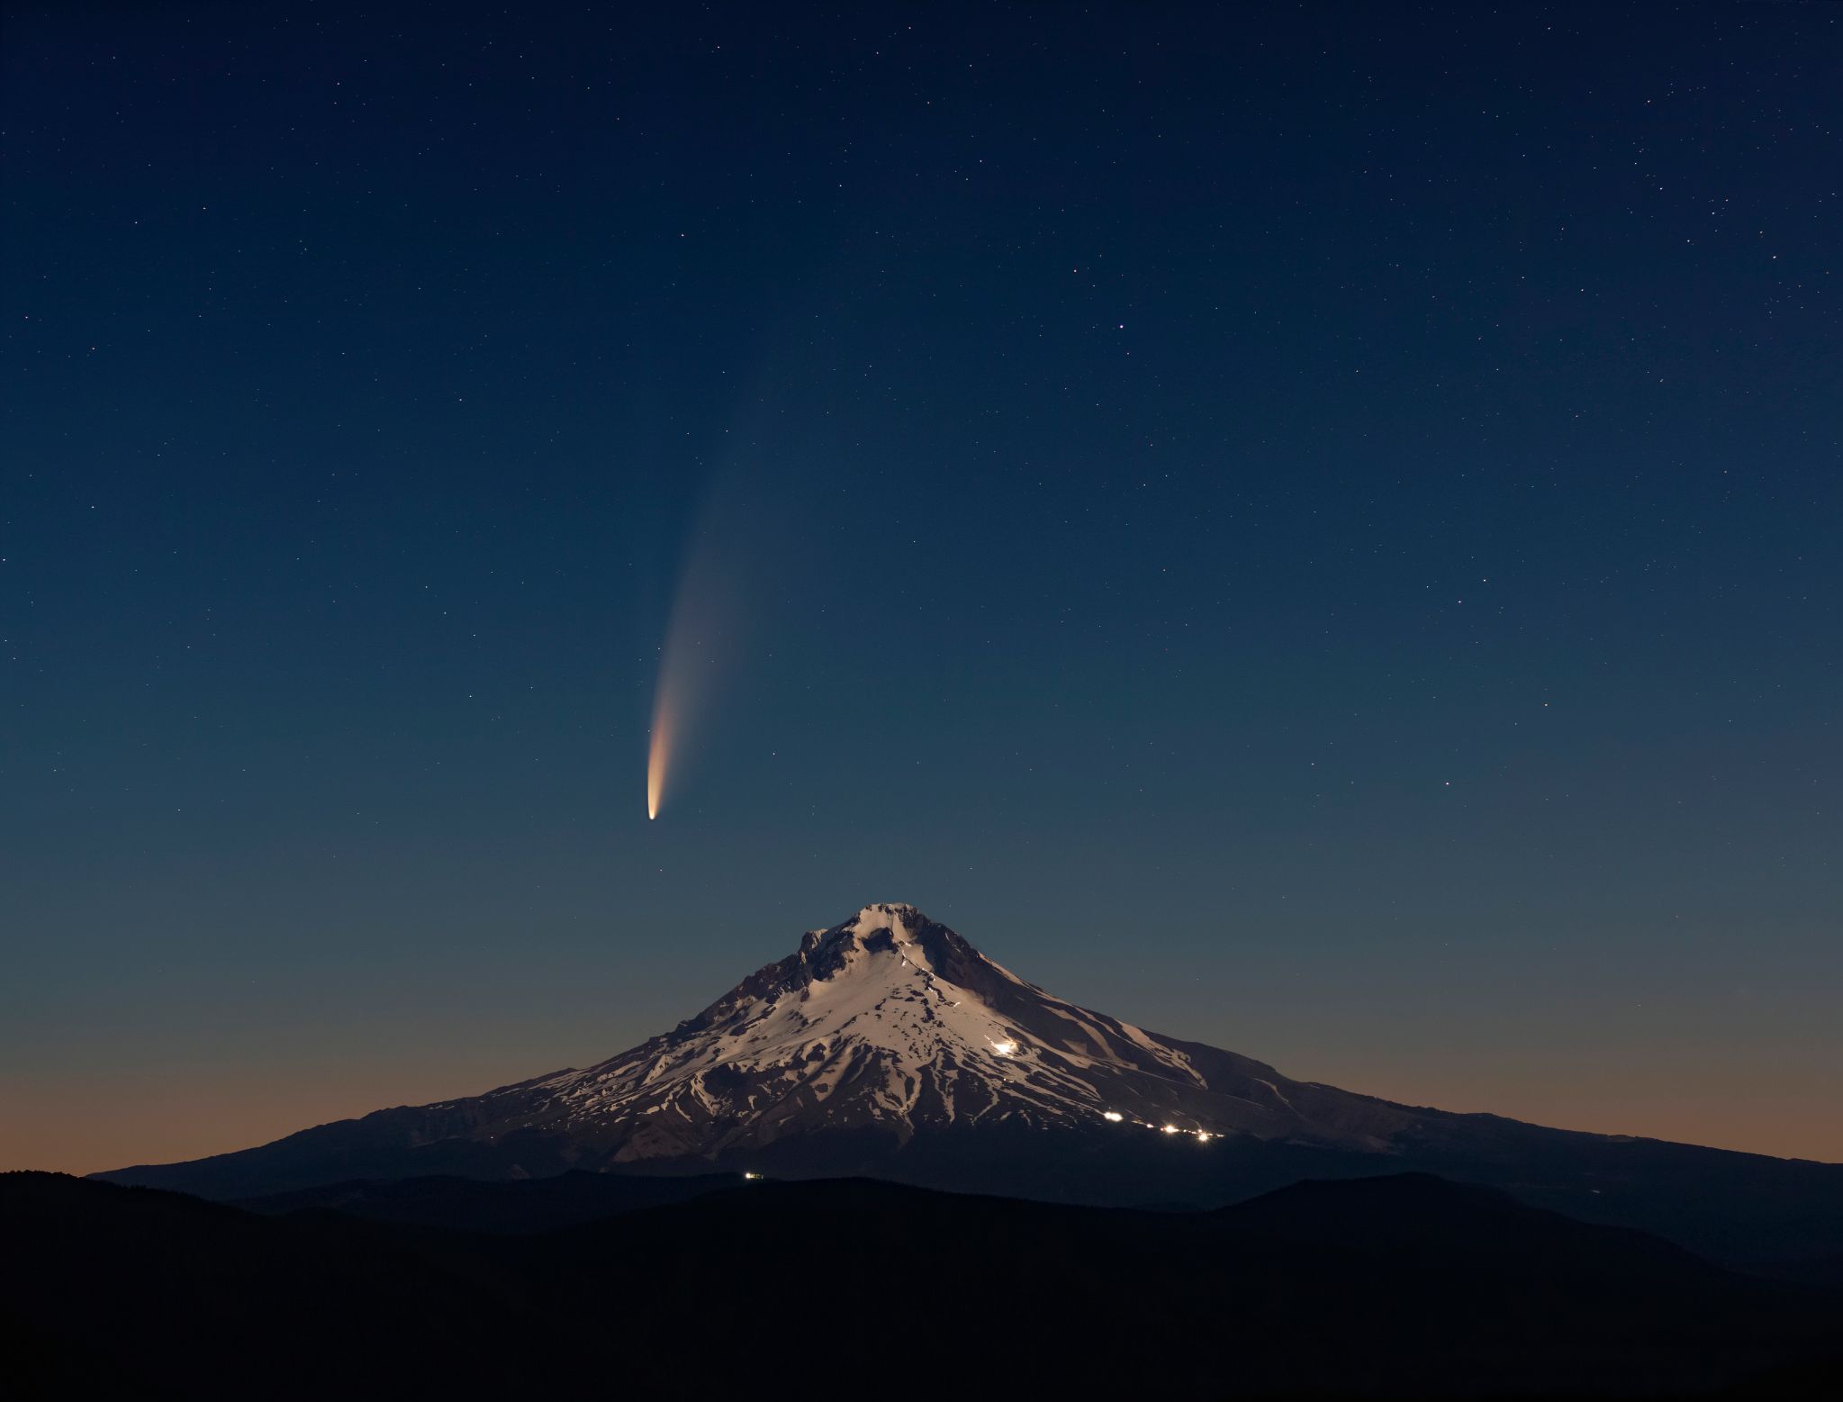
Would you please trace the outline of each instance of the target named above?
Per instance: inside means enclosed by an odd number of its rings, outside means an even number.
[[[1836,6],[413,9],[0,28],[0,1166],[866,901],[1843,1161]]]

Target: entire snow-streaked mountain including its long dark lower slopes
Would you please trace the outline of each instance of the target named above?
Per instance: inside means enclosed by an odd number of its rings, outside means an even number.
[[[697,1017],[593,1067],[101,1177],[252,1198],[429,1174],[713,1168],[1122,1205],[1419,1168],[1731,1258],[1843,1249],[1843,1166],[1294,1081],[1065,1002],[907,905],[809,932]]]

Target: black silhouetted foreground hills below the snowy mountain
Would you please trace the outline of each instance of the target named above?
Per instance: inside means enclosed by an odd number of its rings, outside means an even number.
[[[527,1186],[393,1185],[396,1216],[424,1194],[407,1218],[472,1212],[487,1234],[4,1175],[15,1395],[1817,1396],[1837,1378],[1832,1291],[1423,1175],[1202,1214],[750,1183],[520,1233],[593,1192]]]

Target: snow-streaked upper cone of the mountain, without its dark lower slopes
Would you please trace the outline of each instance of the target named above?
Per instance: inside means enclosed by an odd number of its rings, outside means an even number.
[[[809,930],[663,1037],[501,1094],[492,1133],[551,1129],[614,1162],[822,1129],[907,1142],[929,1127],[1001,1124],[1380,1146],[1391,1118],[1373,1102],[1351,1115],[1272,1067],[1063,1002],[909,905]]]

